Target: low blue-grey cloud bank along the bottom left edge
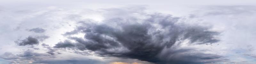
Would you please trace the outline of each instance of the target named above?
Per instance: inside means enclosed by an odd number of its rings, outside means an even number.
[[[3,55],[0,55],[1,59],[10,60],[9,64],[105,64],[98,60],[54,60],[56,58],[52,54],[46,53],[37,53],[33,50],[26,50],[21,54],[12,54],[11,52],[5,52]],[[32,62],[32,63],[29,63]]]

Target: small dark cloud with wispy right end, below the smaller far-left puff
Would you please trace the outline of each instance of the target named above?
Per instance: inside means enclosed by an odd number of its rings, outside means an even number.
[[[25,46],[25,45],[37,45],[40,41],[44,41],[45,39],[49,38],[49,36],[28,36],[24,40],[18,40],[14,41],[19,46]]]

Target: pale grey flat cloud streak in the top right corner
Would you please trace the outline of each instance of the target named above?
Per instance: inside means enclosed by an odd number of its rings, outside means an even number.
[[[217,15],[251,15],[255,13],[255,6],[252,5],[211,5],[203,6],[200,10],[196,10],[196,15],[191,14],[190,18],[217,16]]]

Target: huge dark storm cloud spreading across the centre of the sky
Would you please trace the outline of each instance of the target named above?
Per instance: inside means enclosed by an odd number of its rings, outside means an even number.
[[[210,31],[211,27],[186,24],[179,21],[179,17],[168,14],[155,13],[145,16],[147,18],[142,20],[135,17],[111,17],[104,20],[107,23],[101,24],[79,22],[84,26],[79,26],[64,35],[80,32],[85,34],[84,38],[69,37],[76,42],[72,43],[66,40],[59,42],[54,47],[89,50],[101,56],[132,58],[155,63],[172,61],[178,63],[181,61],[183,64],[188,64],[193,62],[189,59],[196,59],[196,63],[202,60],[221,58],[219,55],[200,52],[190,56],[179,54],[191,52],[193,49],[172,50],[184,40],[189,40],[189,44],[219,42],[220,40],[216,39],[215,36],[220,33]],[[172,51],[168,52],[168,50]],[[177,57],[171,57],[175,54]]]

